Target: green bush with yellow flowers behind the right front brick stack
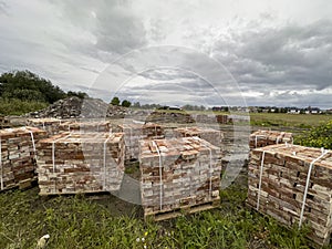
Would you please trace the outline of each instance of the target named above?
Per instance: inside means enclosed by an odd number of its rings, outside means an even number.
[[[295,137],[295,144],[332,149],[332,121],[322,123]]]

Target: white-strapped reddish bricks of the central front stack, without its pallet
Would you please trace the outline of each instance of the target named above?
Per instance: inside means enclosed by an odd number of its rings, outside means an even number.
[[[219,204],[220,148],[199,137],[139,141],[145,217]]]

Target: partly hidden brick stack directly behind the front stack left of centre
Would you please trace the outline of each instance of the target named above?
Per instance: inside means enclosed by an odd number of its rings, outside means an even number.
[[[108,121],[90,121],[90,122],[73,122],[66,121],[59,125],[60,132],[80,132],[80,133],[94,133],[111,131],[111,124]]]

